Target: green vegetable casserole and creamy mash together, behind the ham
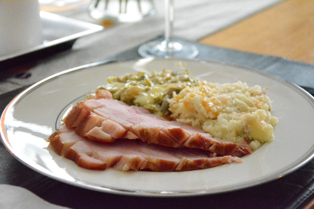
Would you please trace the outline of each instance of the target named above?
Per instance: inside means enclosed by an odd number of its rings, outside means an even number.
[[[273,140],[277,118],[271,116],[266,88],[245,83],[199,81],[188,71],[164,69],[111,77],[107,89],[118,99],[155,115],[203,129],[226,142],[249,142],[252,150]]]

